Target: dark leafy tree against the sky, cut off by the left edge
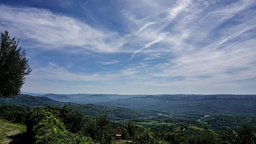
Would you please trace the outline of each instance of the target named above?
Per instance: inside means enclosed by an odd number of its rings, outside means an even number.
[[[20,88],[29,75],[25,50],[19,46],[15,37],[10,38],[8,31],[1,32],[0,37],[0,97],[12,97],[20,93]]]

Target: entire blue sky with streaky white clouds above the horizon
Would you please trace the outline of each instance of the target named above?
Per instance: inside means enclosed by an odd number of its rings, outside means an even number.
[[[0,1],[22,91],[256,94],[256,1]]]

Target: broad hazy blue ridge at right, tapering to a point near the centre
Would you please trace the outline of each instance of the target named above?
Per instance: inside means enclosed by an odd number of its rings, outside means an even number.
[[[256,95],[149,95],[98,104],[194,119],[217,114],[256,116]]]

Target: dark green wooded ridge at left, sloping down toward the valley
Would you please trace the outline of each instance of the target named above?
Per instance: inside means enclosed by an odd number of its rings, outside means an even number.
[[[59,95],[57,95],[59,97]],[[130,110],[121,107],[112,107],[112,106],[101,106],[101,105],[93,105],[93,104],[85,104],[85,105],[78,105],[72,102],[59,102],[53,100],[51,98],[45,96],[31,96],[20,94],[13,98],[6,98],[2,97],[0,100],[1,105],[9,105],[9,106],[21,106],[21,107],[45,107],[45,106],[69,106],[69,107],[81,107],[84,110],[86,115],[96,115],[99,112],[108,114],[109,118],[112,120],[116,119],[130,119],[130,118],[137,118],[141,116],[146,116],[145,114],[141,114],[135,110]]]

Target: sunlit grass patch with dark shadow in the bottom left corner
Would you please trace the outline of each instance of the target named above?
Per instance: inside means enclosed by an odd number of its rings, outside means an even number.
[[[0,119],[0,143],[25,143],[26,126]]]

